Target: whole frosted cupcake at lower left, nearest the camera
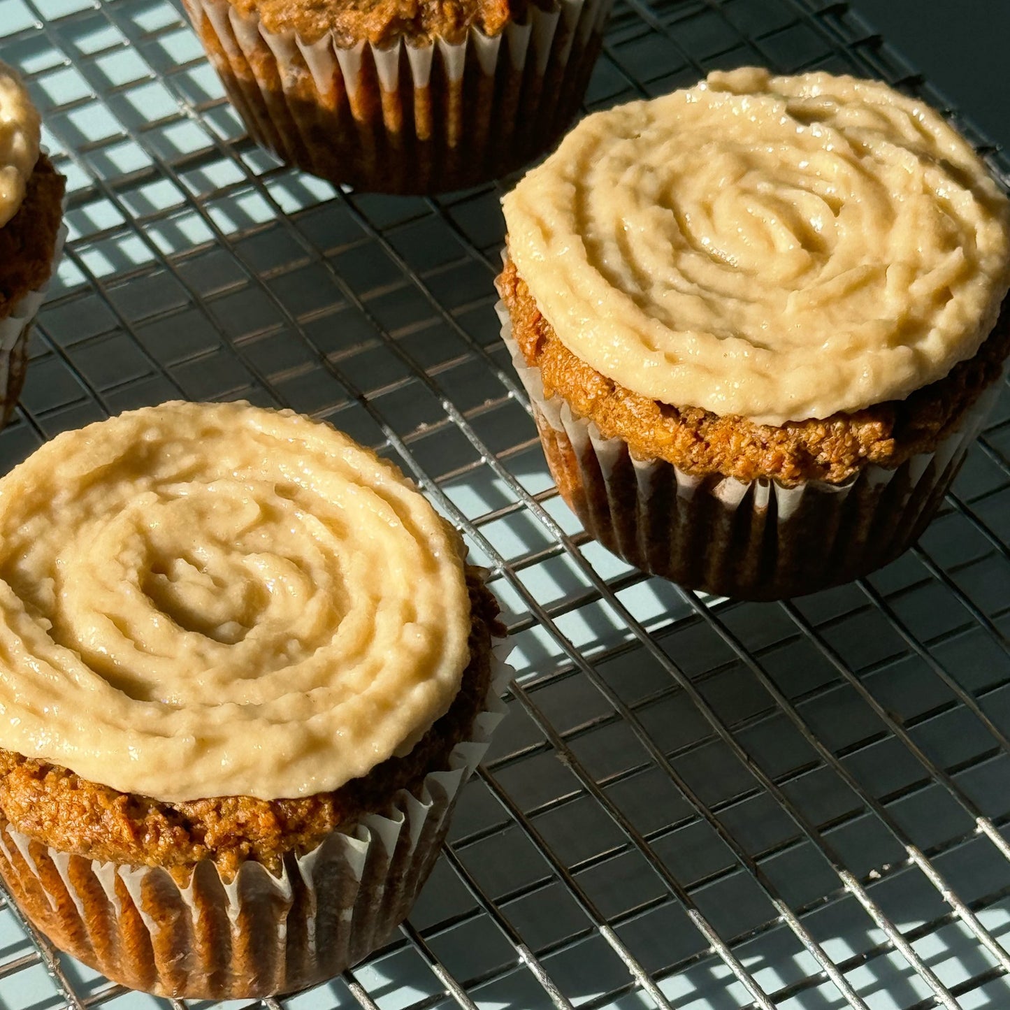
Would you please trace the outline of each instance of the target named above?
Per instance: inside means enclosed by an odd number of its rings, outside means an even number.
[[[251,998],[385,941],[497,722],[459,535],[327,425],[168,403],[0,481],[0,874],[110,979]]]

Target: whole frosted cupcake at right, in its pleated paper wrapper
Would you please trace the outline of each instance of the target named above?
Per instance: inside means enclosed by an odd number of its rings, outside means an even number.
[[[503,202],[503,335],[589,533],[759,600],[916,540],[1010,351],[1008,202],[936,112],[712,74],[583,120]]]

